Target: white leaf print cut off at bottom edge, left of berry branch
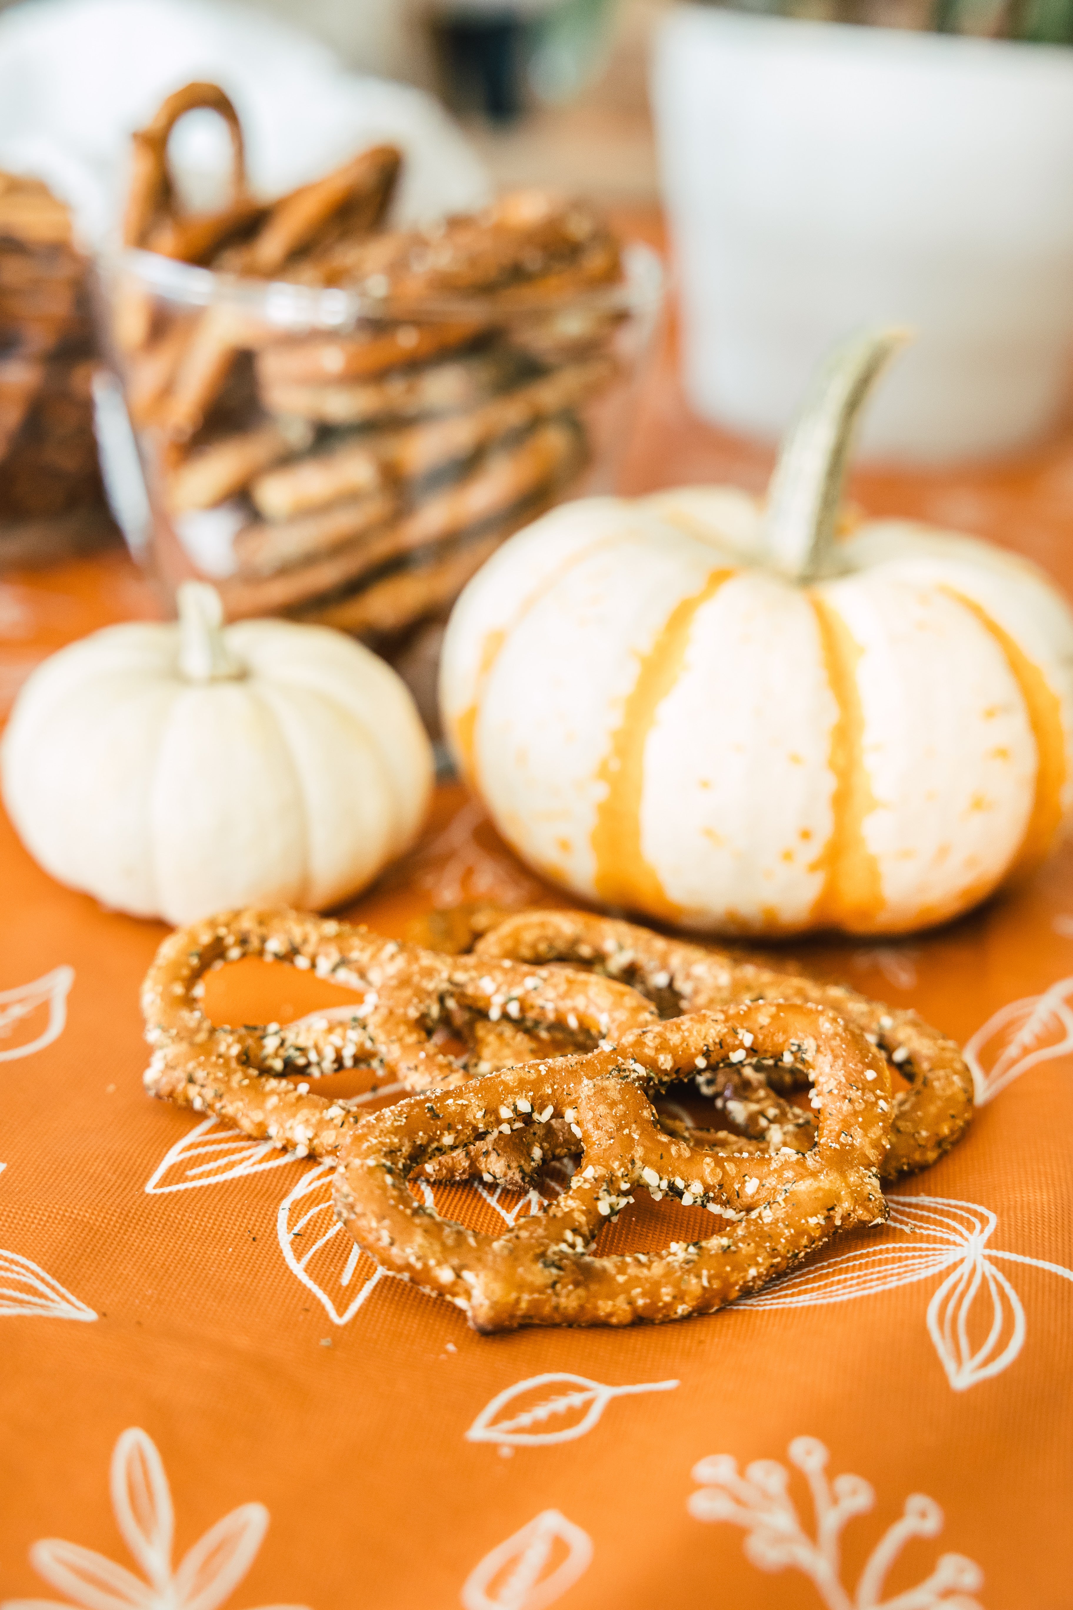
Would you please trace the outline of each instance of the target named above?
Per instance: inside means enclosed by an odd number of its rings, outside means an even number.
[[[581,1526],[542,1510],[465,1579],[465,1610],[544,1610],[561,1599],[592,1563],[592,1539]]]

